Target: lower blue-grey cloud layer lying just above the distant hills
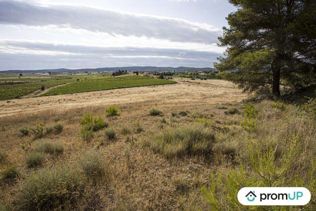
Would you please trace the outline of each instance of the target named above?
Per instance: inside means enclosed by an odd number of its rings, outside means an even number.
[[[185,57],[179,55],[181,53],[185,53]],[[219,55],[221,53],[178,48],[97,47],[0,40],[0,70],[135,65],[212,67]]]

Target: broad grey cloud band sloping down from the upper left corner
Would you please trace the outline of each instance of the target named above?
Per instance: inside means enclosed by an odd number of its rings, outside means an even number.
[[[20,10],[19,10],[20,9]],[[0,24],[84,29],[112,36],[147,37],[212,44],[222,30],[206,23],[163,16],[139,15],[80,5],[0,1]]]

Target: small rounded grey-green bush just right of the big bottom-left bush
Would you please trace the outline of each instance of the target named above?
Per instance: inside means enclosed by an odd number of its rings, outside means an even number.
[[[86,177],[94,182],[100,177],[106,176],[105,162],[98,151],[85,152],[80,160],[80,165]]]

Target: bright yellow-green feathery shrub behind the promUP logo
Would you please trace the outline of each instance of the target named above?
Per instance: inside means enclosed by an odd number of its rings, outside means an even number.
[[[306,178],[308,182],[304,182],[305,178],[301,179],[301,176],[294,173],[293,164],[297,163],[298,156],[295,151],[294,141],[289,143],[289,147],[277,159],[275,146],[264,146],[262,149],[257,144],[250,142],[246,149],[246,162],[241,163],[235,169],[229,169],[227,173],[222,171],[217,171],[216,174],[215,172],[212,173],[210,183],[208,183],[210,186],[201,189],[202,195],[214,210],[222,210],[223,207],[227,210],[246,210],[249,209],[249,206],[241,205],[237,200],[237,193],[243,187],[305,186],[314,189],[315,168],[313,165],[305,172],[308,175]],[[309,205],[314,206],[313,204]],[[304,209],[304,207],[300,208]],[[258,210],[259,208],[253,207],[253,209]],[[280,207],[269,206],[269,210],[280,210]]]

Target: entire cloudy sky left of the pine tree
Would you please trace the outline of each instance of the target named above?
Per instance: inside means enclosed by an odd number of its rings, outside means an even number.
[[[0,0],[0,70],[213,67],[227,0]]]

